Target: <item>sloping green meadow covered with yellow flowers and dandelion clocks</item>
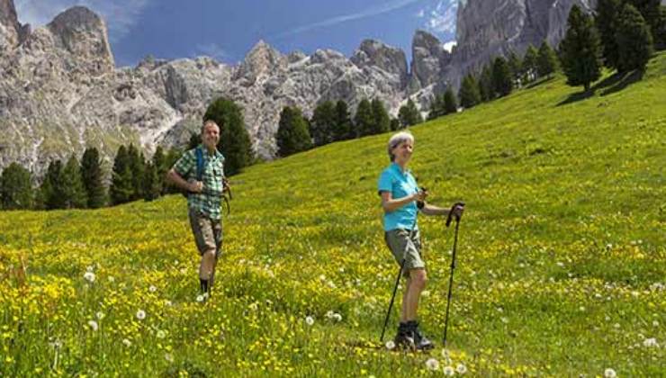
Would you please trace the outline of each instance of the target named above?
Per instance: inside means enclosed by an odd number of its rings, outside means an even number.
[[[556,76],[411,129],[429,202],[467,204],[448,356],[442,218],[419,218],[437,348],[379,342],[398,269],[385,134],[232,177],[208,302],[180,195],[1,212],[0,375],[664,376],[666,55],[634,79],[583,96]]]

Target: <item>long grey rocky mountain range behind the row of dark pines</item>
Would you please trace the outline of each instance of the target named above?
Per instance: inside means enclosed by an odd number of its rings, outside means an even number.
[[[310,116],[326,100],[345,100],[354,111],[361,99],[379,98],[396,114],[410,96],[427,109],[434,94],[492,56],[544,39],[555,45],[572,4],[592,3],[460,1],[454,51],[417,31],[408,70],[404,52],[379,40],[364,40],[351,58],[331,49],[286,55],[259,41],[237,66],[201,57],[116,68],[103,20],[85,7],[30,31],[18,23],[13,0],[0,0],[0,169],[17,161],[40,176],[50,159],[89,146],[111,161],[121,144],[148,154],[157,144],[183,144],[218,96],[243,107],[253,148],[271,158],[286,105]]]

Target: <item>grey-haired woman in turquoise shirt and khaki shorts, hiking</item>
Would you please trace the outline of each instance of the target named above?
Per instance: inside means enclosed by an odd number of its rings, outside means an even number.
[[[379,177],[379,194],[382,196],[384,211],[384,239],[393,257],[402,266],[402,274],[407,280],[395,344],[427,350],[434,345],[423,336],[417,321],[419,297],[428,280],[426,264],[420,253],[417,212],[420,210],[426,215],[446,216],[449,210],[426,203],[428,193],[425,189],[419,189],[414,176],[407,169],[413,151],[414,137],[410,132],[401,131],[389,139],[391,165]],[[459,218],[463,207],[455,206],[451,211]]]

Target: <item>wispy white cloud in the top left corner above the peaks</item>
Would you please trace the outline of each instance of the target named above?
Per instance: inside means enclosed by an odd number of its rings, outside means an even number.
[[[50,23],[59,13],[83,5],[100,14],[112,41],[121,40],[139,22],[139,16],[152,0],[15,0],[21,23],[33,28]]]

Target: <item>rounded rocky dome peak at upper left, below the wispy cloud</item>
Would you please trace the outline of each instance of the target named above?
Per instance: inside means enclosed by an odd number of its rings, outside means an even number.
[[[93,63],[93,74],[111,72],[115,65],[106,24],[85,6],[74,6],[58,14],[47,25],[58,47]]]

